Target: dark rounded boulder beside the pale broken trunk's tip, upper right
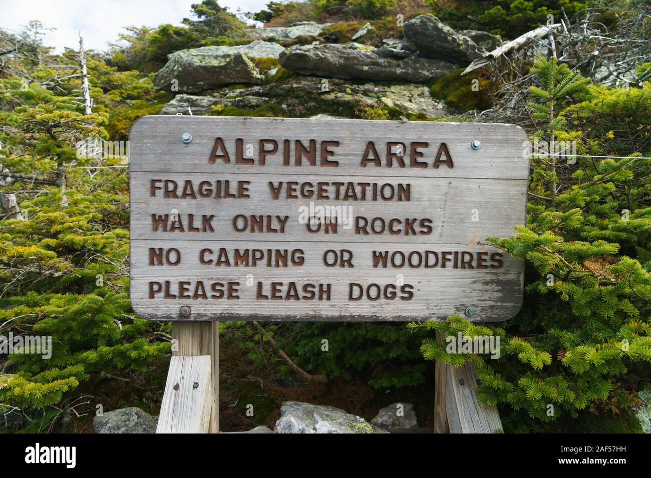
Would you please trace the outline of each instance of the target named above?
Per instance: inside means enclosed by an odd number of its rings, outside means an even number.
[[[405,23],[404,36],[409,47],[428,58],[469,63],[482,55],[473,40],[456,33],[432,14],[419,15]]]

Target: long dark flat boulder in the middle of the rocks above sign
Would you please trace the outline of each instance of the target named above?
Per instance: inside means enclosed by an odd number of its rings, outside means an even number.
[[[443,60],[417,55],[395,60],[339,44],[290,47],[281,53],[278,60],[284,68],[304,75],[409,83],[427,83],[459,68]]]

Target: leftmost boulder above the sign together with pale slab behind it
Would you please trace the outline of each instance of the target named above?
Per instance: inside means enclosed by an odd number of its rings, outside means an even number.
[[[255,41],[239,46],[204,46],[179,50],[167,57],[167,64],[154,76],[159,90],[193,93],[230,83],[260,83],[262,75],[251,59],[278,58],[284,48]],[[178,90],[172,88],[173,81]]]

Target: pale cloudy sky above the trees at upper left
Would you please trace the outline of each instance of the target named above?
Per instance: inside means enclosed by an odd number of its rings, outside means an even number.
[[[122,27],[161,23],[180,24],[190,16],[190,5],[201,0],[0,0],[0,27],[19,30],[30,20],[55,27],[45,44],[62,51],[64,46],[79,44],[81,31],[87,48],[105,50],[115,42]],[[235,13],[257,12],[269,0],[219,0],[219,5]]]

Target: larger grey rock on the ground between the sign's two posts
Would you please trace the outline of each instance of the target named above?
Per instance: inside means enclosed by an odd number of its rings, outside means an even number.
[[[276,433],[387,433],[365,419],[328,405],[283,402]]]

